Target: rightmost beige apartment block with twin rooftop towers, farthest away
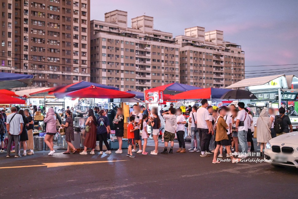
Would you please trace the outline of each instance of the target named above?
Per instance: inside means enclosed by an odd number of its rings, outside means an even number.
[[[223,31],[203,27],[184,30],[175,38],[180,45],[180,83],[201,88],[225,88],[244,79],[244,51],[223,41]]]

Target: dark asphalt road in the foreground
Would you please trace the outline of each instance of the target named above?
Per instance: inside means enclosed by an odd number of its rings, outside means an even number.
[[[152,140],[149,145],[147,152],[153,150]],[[212,164],[211,157],[199,157],[197,152],[136,154],[136,158],[126,157],[126,150],[123,154],[113,150],[110,155],[62,152],[58,150],[48,156],[48,151],[36,151],[21,158],[6,158],[6,153],[1,153],[0,167],[74,163],[0,169],[0,198],[297,198],[298,195],[298,169],[279,169],[266,162]],[[124,161],[75,165],[119,160]]]

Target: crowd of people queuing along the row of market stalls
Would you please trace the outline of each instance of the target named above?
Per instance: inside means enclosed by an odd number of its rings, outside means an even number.
[[[188,122],[183,113],[189,115]],[[57,127],[65,129],[65,140],[68,144],[67,151],[63,154],[76,153],[77,150],[72,145],[74,140],[73,116],[69,108],[65,111],[65,124],[60,124],[57,114],[52,107],[48,108],[44,122],[46,125],[45,143],[50,148],[48,155],[55,153],[53,136],[57,133]],[[23,147],[23,156],[32,155],[33,152],[33,128],[34,122],[28,109],[17,110],[11,108],[11,114],[0,114],[0,137],[1,151],[4,152],[4,133],[8,133],[7,156],[10,157],[11,143],[15,143],[15,157],[21,157],[20,149]],[[124,114],[121,107],[117,111],[98,110],[97,107],[88,110],[86,125],[86,138],[84,149],[80,153],[87,155],[87,149],[91,149],[90,154],[95,154],[96,142],[99,142],[99,154],[103,154],[103,143],[106,146],[105,154],[111,154],[107,139],[110,138],[111,131],[115,131],[115,136],[119,143],[117,154],[122,151],[122,137],[124,136]],[[150,127],[150,132],[147,127]],[[157,107],[147,110],[144,106],[135,104],[130,112],[129,123],[127,125],[128,152],[127,156],[136,157],[135,153],[147,155],[147,139],[154,140],[154,150],[151,155],[158,154],[158,136],[162,133],[162,143],[164,150],[161,154],[172,154],[174,139],[179,143],[177,153],[186,153],[184,142],[185,127],[191,135],[190,152],[200,152],[201,157],[213,155],[212,163],[220,163],[217,158],[223,157],[223,150],[226,157],[230,157],[233,163],[240,162],[240,158],[247,158],[248,154],[254,151],[253,147],[253,113],[249,107],[245,107],[243,102],[238,103],[238,110],[234,104],[229,108],[223,106],[214,109],[208,104],[207,99],[201,100],[201,106],[190,106],[187,110],[175,109],[171,104],[168,111],[158,111]],[[279,128],[277,128],[279,127]],[[257,119],[257,142],[260,143],[261,155],[265,144],[273,137],[288,132],[292,132],[292,125],[285,109],[279,108],[279,115],[274,114],[274,109],[263,109]],[[144,141],[142,144],[142,140]],[[170,143],[170,148],[168,145]],[[20,146],[21,144],[21,146]],[[239,152],[241,148],[241,153]],[[236,158],[237,157],[237,158]]]

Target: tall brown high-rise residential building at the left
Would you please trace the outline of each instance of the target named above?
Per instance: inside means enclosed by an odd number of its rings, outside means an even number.
[[[90,81],[90,0],[2,0],[0,13],[0,70],[36,87]]]

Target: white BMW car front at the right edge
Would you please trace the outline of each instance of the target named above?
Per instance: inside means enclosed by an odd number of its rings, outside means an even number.
[[[276,167],[298,168],[298,132],[277,136],[265,147],[265,159]]]

